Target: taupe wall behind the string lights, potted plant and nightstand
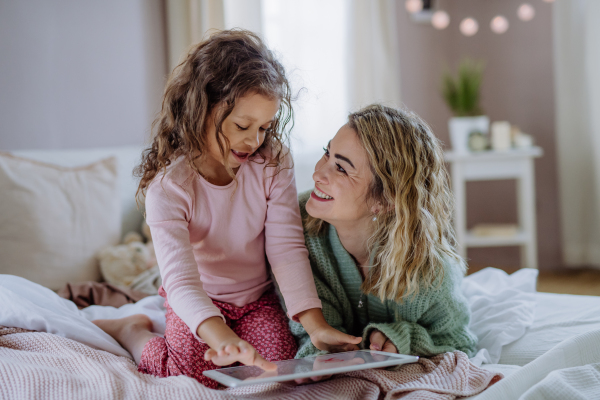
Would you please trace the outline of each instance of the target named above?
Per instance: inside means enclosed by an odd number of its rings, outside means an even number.
[[[554,88],[552,59],[552,5],[530,2],[533,20],[516,16],[521,0],[439,0],[451,23],[443,31],[413,22],[400,11],[402,99],[449,143],[447,121],[451,117],[439,95],[440,74],[445,65],[456,67],[462,56],[484,59],[487,68],[482,106],[494,120],[508,120],[534,136],[544,156],[535,163],[537,193],[538,253],[541,270],[561,268],[560,226],[554,132]],[[497,35],[490,20],[502,14],[509,30]],[[462,18],[474,17],[479,32],[460,34]],[[472,182],[467,185],[469,227],[479,222],[516,221],[514,181]],[[516,267],[519,251],[514,247],[471,249],[473,266]]]

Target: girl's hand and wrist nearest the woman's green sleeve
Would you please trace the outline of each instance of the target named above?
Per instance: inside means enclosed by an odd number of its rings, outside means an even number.
[[[329,352],[358,350],[362,338],[345,334],[329,326],[319,308],[312,308],[298,314],[298,319],[310,340],[319,350]]]

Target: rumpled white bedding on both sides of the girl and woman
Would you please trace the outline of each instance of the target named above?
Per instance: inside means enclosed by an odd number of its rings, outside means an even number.
[[[600,298],[534,293],[536,277],[534,270],[509,276],[487,268],[465,278],[471,328],[480,340],[472,361],[506,377],[474,398],[600,399]],[[0,275],[0,325],[58,334],[125,357],[129,354],[90,321],[144,313],[164,333],[163,302],[150,296],[118,309],[78,310],[49,289]]]

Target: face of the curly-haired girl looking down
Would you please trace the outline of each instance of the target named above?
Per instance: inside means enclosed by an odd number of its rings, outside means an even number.
[[[232,169],[238,168],[263,144],[265,132],[271,127],[275,114],[279,110],[278,99],[270,99],[261,94],[252,93],[236,100],[231,114],[222,124],[223,135],[229,140],[231,150],[227,161]],[[208,155],[224,165],[223,156],[215,137],[215,116],[219,107],[215,107],[207,124]],[[225,142],[221,139],[223,148]]]

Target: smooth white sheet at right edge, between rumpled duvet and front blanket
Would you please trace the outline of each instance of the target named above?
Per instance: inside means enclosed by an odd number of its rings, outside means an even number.
[[[536,293],[535,317],[520,339],[504,346],[500,364],[523,366],[579,334],[600,330],[600,297]]]

